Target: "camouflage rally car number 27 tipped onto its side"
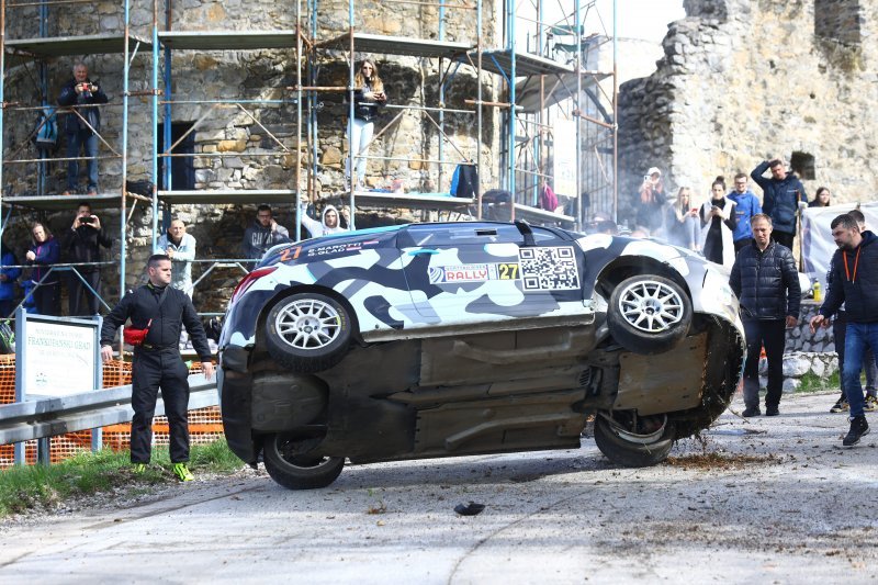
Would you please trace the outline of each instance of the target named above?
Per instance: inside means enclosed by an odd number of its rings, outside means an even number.
[[[525,223],[414,224],[278,246],[237,286],[217,384],[232,450],[279,484],[352,463],[579,446],[663,461],[744,358],[717,265]]]

